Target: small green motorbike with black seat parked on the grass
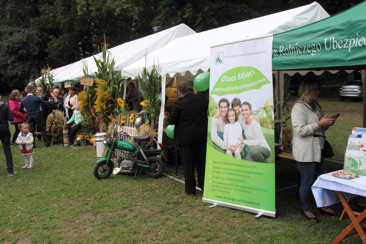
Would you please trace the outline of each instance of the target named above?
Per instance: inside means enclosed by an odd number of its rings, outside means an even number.
[[[137,174],[143,170],[145,174],[152,178],[159,178],[164,171],[164,163],[157,156],[161,156],[161,149],[146,148],[147,142],[150,142],[150,135],[134,136],[134,142],[138,143],[137,148],[130,142],[120,140],[120,135],[130,137],[125,131],[116,132],[116,124],[111,138],[103,141],[107,147],[103,158],[97,161],[94,166],[94,176],[97,179],[106,179],[112,172],[113,174]],[[122,150],[122,156],[119,156],[114,163],[117,150]]]

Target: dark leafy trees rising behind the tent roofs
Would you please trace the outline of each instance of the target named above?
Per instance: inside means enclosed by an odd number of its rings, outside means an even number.
[[[330,14],[362,0],[318,0]],[[0,0],[0,88],[23,89],[42,67],[58,68],[185,23],[197,32],[313,0]]]

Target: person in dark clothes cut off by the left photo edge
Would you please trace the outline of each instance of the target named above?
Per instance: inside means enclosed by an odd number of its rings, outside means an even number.
[[[2,143],[2,149],[4,150],[6,169],[9,176],[13,176],[17,173],[14,171],[13,155],[10,148],[10,130],[9,122],[13,121],[14,117],[7,103],[1,102],[0,95],[0,141]]]

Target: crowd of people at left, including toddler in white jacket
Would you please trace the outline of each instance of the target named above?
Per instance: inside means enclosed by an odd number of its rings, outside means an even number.
[[[50,89],[37,87],[36,93],[33,86],[27,86],[26,91],[20,93],[13,90],[9,95],[9,102],[1,102],[0,96],[0,140],[5,153],[7,171],[9,176],[15,175],[10,147],[19,146],[20,153],[24,156],[24,166],[33,167],[33,149],[37,147],[36,141],[43,141],[46,147],[50,146],[47,134],[46,120],[52,111],[61,111],[67,119],[64,125],[69,128],[69,144],[72,146],[77,131],[81,127],[83,116],[79,111],[79,100],[76,87],[70,86],[61,93],[55,87]],[[14,125],[15,132],[10,134],[9,123]],[[35,136],[36,130],[40,133]],[[64,145],[64,144],[61,144]]]

